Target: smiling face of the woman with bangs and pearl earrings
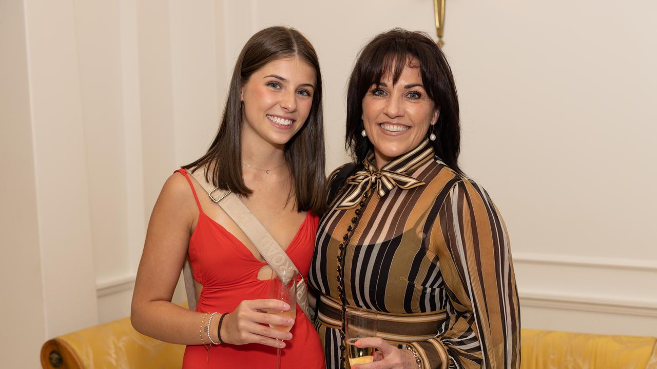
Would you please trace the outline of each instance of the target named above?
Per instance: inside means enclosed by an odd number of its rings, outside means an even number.
[[[390,70],[394,70],[390,68]],[[376,166],[416,148],[438,121],[438,109],[422,85],[419,62],[409,59],[397,83],[392,74],[373,84],[363,97],[363,124],[374,146]]]

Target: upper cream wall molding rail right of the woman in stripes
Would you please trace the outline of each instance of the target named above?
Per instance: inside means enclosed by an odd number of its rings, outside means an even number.
[[[547,253],[514,252],[514,263],[563,265],[567,267],[593,267],[629,269],[632,271],[657,272],[657,261],[641,259],[619,259],[583,255],[555,255]]]

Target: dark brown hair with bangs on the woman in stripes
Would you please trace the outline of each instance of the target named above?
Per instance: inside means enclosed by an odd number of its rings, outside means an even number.
[[[436,108],[440,109],[434,126],[436,141],[432,142],[436,155],[451,169],[463,173],[458,165],[461,147],[459,98],[454,77],[445,55],[424,32],[394,28],[376,35],[361,51],[351,72],[347,90],[346,147],[355,163],[361,163],[373,148],[363,131],[363,97],[381,78],[392,73],[397,83],[409,57],[417,58],[424,89]],[[427,133],[428,136],[428,133]]]

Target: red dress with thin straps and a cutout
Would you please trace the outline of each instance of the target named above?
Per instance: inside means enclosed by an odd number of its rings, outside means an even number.
[[[257,277],[260,268],[267,263],[256,259],[240,240],[203,212],[187,171],[179,169],[177,172],[187,178],[199,211],[188,251],[194,278],[203,285],[196,311],[230,312],[242,300],[268,298],[269,281]],[[318,223],[317,215],[308,213],[285,251],[304,276],[310,268]],[[281,369],[325,368],[324,351],[317,331],[298,305],[290,332],[292,339],[286,341],[282,350]],[[274,347],[256,343],[210,347],[209,362],[208,351],[203,345],[188,345],[183,368],[273,368],[275,361]]]

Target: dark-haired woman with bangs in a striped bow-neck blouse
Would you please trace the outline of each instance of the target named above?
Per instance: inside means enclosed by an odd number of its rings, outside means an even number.
[[[520,312],[497,207],[464,177],[451,70],[426,34],[361,51],[348,87],[354,163],[330,175],[310,283],[327,368],[345,367],[344,313],[378,313],[380,368],[519,368]],[[348,362],[348,361],[347,361]]]

